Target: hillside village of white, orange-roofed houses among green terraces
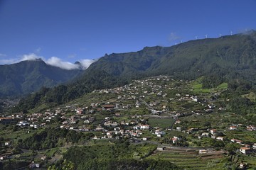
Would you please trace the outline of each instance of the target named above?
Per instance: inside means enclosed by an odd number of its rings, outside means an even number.
[[[95,90],[47,111],[6,115],[0,123],[2,129],[16,125],[27,135],[58,127],[90,132],[92,141],[129,139],[156,145],[149,157],[178,152],[186,157],[196,155],[208,164],[210,159],[223,159],[232,153],[232,159],[239,157],[235,164],[243,169],[253,164],[248,157],[255,163],[256,126],[228,111],[228,99],[221,97],[226,89],[227,84],[202,89],[198,80],[150,77],[114,89]],[[16,140],[1,132],[1,161],[15,157],[11,150]],[[41,156],[34,167],[43,164],[46,155]]]

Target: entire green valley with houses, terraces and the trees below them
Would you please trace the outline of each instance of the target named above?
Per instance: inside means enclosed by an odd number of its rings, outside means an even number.
[[[131,157],[134,167],[159,159],[174,169],[256,166],[255,120],[249,113],[233,112],[228,84],[203,89],[202,80],[149,77],[94,90],[54,108],[42,105],[30,113],[6,115],[19,124],[4,125],[4,118],[0,120],[2,167],[11,161],[44,169],[66,159],[77,169],[82,164],[90,169],[117,158],[127,162]],[[255,94],[242,98],[249,96]],[[119,145],[127,147],[105,157],[107,147]],[[102,150],[96,152],[97,147]],[[82,161],[85,155],[75,156],[74,149],[95,158]]]

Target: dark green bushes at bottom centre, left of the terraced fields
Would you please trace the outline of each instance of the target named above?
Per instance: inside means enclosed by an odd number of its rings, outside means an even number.
[[[137,155],[153,151],[151,145],[130,145],[128,141],[119,141],[107,145],[72,147],[64,159],[75,164],[75,169],[178,169],[169,161],[132,159]]]

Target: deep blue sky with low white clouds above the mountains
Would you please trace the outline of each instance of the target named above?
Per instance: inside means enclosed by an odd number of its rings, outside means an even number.
[[[256,30],[255,8],[256,0],[0,0],[0,64],[90,64],[105,53]]]

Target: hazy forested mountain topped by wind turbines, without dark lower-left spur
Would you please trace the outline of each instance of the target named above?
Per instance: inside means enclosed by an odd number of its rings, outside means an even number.
[[[87,70],[134,78],[169,74],[194,79],[213,72],[240,72],[256,68],[256,32],[192,40],[172,47],[144,47],[139,52],[105,55]]]

